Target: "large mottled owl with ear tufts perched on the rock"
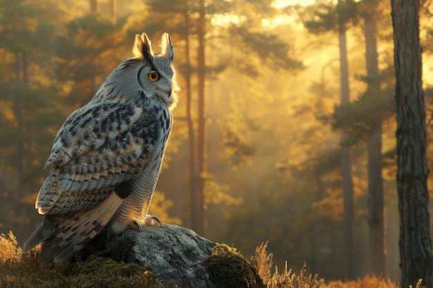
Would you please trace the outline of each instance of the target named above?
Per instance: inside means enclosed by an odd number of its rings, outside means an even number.
[[[135,57],[111,72],[90,102],[74,111],[55,136],[52,165],[35,207],[42,224],[24,251],[42,243],[39,262],[64,262],[101,231],[140,231],[172,131],[176,106],[174,50],[169,35],[154,55],[145,33]]]

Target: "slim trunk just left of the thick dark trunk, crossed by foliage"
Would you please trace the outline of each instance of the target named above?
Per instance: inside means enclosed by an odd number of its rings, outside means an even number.
[[[365,19],[365,58],[367,64],[367,93],[376,99],[380,93],[378,81],[378,52],[376,41],[376,3],[367,3]],[[373,119],[367,137],[368,187],[369,187],[369,259],[371,272],[387,277],[387,251],[383,220],[382,179],[382,119]]]

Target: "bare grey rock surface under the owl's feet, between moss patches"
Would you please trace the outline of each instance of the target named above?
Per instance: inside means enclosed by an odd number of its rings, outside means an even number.
[[[215,245],[190,229],[163,223],[141,232],[127,230],[107,248],[118,260],[147,267],[169,285],[215,287],[204,265]]]

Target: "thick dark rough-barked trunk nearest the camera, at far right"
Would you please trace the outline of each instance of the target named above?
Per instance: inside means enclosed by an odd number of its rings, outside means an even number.
[[[433,287],[418,0],[391,0],[397,113],[401,287]]]

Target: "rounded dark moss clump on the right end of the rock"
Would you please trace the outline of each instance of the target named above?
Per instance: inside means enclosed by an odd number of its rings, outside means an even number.
[[[226,244],[217,244],[212,255],[205,259],[205,265],[217,288],[265,287],[251,263]]]

